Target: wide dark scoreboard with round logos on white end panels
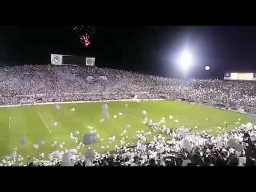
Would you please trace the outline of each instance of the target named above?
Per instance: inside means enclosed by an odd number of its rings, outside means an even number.
[[[51,54],[51,65],[95,66],[95,58],[79,57],[74,55]]]

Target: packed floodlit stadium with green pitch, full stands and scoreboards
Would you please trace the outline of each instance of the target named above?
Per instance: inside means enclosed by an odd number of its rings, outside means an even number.
[[[1,67],[1,166],[255,166],[253,71],[178,79],[96,63]]]

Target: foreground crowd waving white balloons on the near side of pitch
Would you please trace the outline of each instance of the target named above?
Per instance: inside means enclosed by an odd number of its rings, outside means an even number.
[[[256,126],[251,123],[217,137],[206,131],[175,132],[155,125],[151,129],[159,131],[152,140],[150,131],[137,131],[135,145],[124,141],[113,153],[100,154],[90,147],[85,154],[78,154],[77,149],[54,151],[46,157],[40,154],[40,158],[23,166],[256,166]],[[18,163],[3,160],[0,166]]]

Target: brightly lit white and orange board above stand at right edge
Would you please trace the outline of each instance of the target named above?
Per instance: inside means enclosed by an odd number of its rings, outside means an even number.
[[[226,73],[225,80],[256,81],[256,73]]]

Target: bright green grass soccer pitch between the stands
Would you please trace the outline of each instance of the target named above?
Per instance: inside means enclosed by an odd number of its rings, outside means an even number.
[[[135,131],[150,131],[154,134],[142,123],[145,118],[142,114],[143,110],[147,111],[147,118],[152,119],[154,123],[160,122],[164,117],[166,121],[164,124],[170,129],[197,126],[194,132],[212,130],[211,133],[214,135],[220,131],[233,130],[239,126],[236,124],[238,119],[241,119],[240,124],[249,122],[247,115],[173,101],[107,102],[110,119],[100,122],[103,104],[101,102],[60,104],[60,110],[56,110],[54,105],[0,108],[0,159],[11,155],[15,148],[18,155],[24,157],[24,161],[28,155],[38,158],[39,154],[45,153],[47,158],[52,151],[76,148],[83,140],[83,135],[90,133],[87,126],[92,126],[100,135],[100,139],[93,145],[81,146],[78,153],[84,154],[88,147],[100,153],[111,151],[115,145],[120,145],[123,138],[125,143],[132,144],[136,142],[133,138],[136,135]],[[75,111],[71,111],[72,108],[75,108]],[[114,115],[117,118],[114,118]],[[170,115],[173,119],[169,119]],[[58,125],[54,126],[53,121],[58,122]],[[228,128],[224,122],[227,122]],[[130,124],[131,128],[127,129],[127,133],[122,137],[120,134],[127,124]],[[75,131],[79,131],[78,143],[70,138],[70,133]],[[110,144],[108,138],[114,135],[116,140]],[[22,145],[21,137],[27,138],[26,145]],[[33,145],[38,140],[45,141],[45,145],[34,149]],[[52,147],[54,141],[58,143]],[[62,142],[65,142],[65,145],[60,148]],[[105,149],[101,149],[101,146]]]

